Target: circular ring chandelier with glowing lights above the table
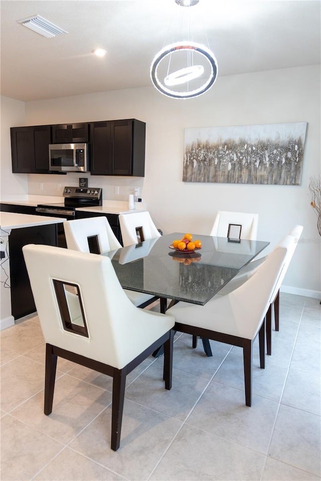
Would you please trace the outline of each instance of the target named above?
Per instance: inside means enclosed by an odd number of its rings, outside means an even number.
[[[184,65],[182,68],[170,71],[170,65],[175,56],[181,56],[184,52],[188,55],[178,59],[177,64]],[[198,56],[200,64],[195,65],[194,60]],[[173,56],[173,59],[172,59]],[[168,65],[163,65],[168,58]],[[166,71],[167,69],[167,71]],[[198,97],[209,90],[217,78],[218,66],[213,53],[203,45],[195,42],[178,42],[168,45],[159,51],[150,66],[150,78],[155,88],[164,95],[175,99],[190,99]],[[167,75],[165,75],[167,73]],[[204,78],[205,76],[205,78]],[[184,85],[186,84],[186,85]],[[183,88],[171,88],[184,86]]]

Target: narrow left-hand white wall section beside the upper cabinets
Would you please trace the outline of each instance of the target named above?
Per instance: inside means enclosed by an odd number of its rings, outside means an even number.
[[[13,174],[11,164],[10,127],[25,125],[25,102],[1,96],[1,180],[2,195],[27,194],[26,174]]]

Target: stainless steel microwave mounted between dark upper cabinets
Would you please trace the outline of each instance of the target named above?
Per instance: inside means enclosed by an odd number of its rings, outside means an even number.
[[[88,172],[88,144],[50,144],[49,170]]]

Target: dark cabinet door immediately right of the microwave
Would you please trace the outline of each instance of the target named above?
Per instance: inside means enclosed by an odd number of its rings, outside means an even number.
[[[90,124],[90,172],[110,175],[110,121]]]

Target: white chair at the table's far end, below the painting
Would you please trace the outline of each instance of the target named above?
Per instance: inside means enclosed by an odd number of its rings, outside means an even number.
[[[210,235],[255,240],[257,236],[258,219],[259,214],[219,210],[216,214]]]

